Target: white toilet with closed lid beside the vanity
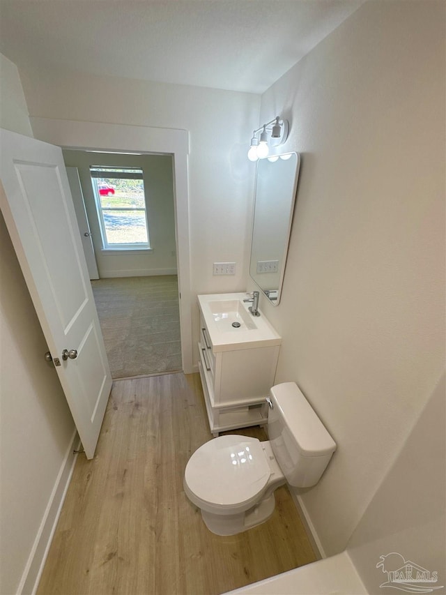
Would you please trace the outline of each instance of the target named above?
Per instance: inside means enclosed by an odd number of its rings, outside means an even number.
[[[185,493],[217,535],[235,535],[266,521],[274,511],[274,490],[286,482],[295,488],[315,485],[336,450],[294,382],[273,386],[268,403],[268,441],[220,436],[187,462]]]

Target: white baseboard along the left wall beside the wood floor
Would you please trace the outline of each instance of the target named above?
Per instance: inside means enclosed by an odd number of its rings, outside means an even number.
[[[51,545],[68,485],[70,485],[72,472],[75,468],[77,454],[73,453],[73,450],[78,448],[78,444],[79,437],[75,430],[70,440],[70,446],[68,446],[66,455],[63,458],[51,496],[49,497],[47,508],[40,523],[36,539],[34,540],[28,562],[26,562],[22,580],[20,580],[20,585],[17,589],[17,595],[34,595],[37,591],[43,566],[45,566],[49,552],[49,546]]]

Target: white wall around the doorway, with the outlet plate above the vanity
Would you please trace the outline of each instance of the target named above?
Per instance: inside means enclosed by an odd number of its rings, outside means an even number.
[[[189,130],[192,294],[246,289],[255,168],[246,151],[259,96],[50,68],[20,74],[31,123],[41,117]],[[213,262],[236,262],[236,275],[214,277]],[[197,306],[192,314],[196,345]]]

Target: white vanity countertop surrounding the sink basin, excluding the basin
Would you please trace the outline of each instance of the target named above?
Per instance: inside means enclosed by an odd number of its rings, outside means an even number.
[[[233,351],[235,349],[254,349],[256,347],[267,347],[270,345],[280,345],[282,338],[277,334],[266,319],[263,312],[259,309],[260,316],[253,316],[248,308],[252,303],[245,303],[243,300],[249,299],[246,293],[234,294],[208,294],[199,295],[198,301],[203,318],[206,322],[210,340],[213,345],[213,352]],[[254,329],[233,329],[231,331],[222,331],[217,322],[215,322],[215,305],[224,305],[224,302],[240,301],[245,312],[243,315],[249,317],[250,322],[254,323]],[[220,308],[218,308],[220,310]]]

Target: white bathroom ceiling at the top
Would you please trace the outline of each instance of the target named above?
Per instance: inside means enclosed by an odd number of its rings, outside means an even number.
[[[0,52],[95,75],[263,93],[364,0],[0,0]]]

